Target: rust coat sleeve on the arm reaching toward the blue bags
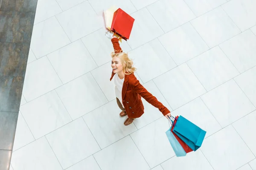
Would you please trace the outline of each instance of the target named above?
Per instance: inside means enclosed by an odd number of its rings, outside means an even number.
[[[137,93],[140,94],[148,103],[153,105],[154,107],[158,108],[160,112],[163,113],[165,116],[166,114],[170,113],[170,111],[157,100],[155,96],[153,96],[151,93],[149,93],[143,85],[140,84],[139,80],[134,76],[134,74],[131,74],[131,80],[130,80],[131,88]]]

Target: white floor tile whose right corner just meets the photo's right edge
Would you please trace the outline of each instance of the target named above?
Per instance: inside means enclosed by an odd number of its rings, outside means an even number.
[[[222,127],[255,110],[233,79],[207,92],[201,98]]]

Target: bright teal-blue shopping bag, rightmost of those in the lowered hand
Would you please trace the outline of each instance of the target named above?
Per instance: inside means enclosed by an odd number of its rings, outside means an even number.
[[[198,150],[201,147],[206,131],[190,122],[183,116],[179,116],[173,133],[180,137],[192,150]]]

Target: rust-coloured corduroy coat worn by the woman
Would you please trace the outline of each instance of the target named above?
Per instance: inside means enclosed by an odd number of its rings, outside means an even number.
[[[111,41],[113,43],[115,53],[122,51],[117,38],[113,38]],[[110,81],[114,74],[115,73],[112,71]],[[140,84],[134,74],[125,74],[125,80],[122,87],[122,101],[120,102],[124,105],[129,118],[138,118],[143,115],[144,106],[141,101],[141,97],[154,107],[158,108],[164,116],[170,113],[170,111],[161,102],[159,102],[155,96],[149,93],[143,85]]]

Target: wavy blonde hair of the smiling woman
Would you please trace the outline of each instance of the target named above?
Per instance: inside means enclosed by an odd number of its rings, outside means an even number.
[[[121,59],[121,63],[123,65],[123,72],[125,74],[133,74],[137,69],[133,66],[133,61],[132,59],[129,59],[128,54],[124,52],[120,53],[111,53],[111,57],[118,57]],[[128,72],[128,73],[126,73]]]

